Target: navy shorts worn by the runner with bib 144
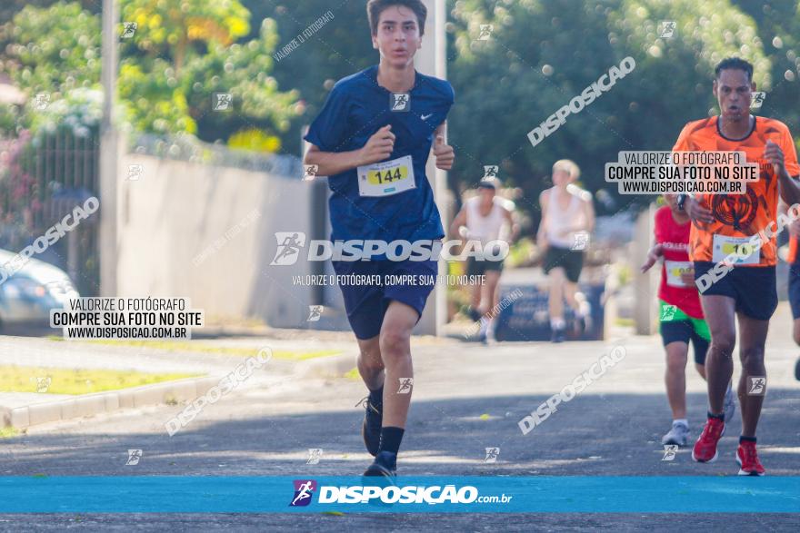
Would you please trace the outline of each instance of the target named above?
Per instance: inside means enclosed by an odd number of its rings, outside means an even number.
[[[377,337],[393,300],[415,309],[417,321],[433,291],[438,266],[435,261],[335,261],[339,288],[355,337]]]

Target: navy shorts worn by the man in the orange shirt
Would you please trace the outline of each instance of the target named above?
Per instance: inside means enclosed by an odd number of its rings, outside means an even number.
[[[695,281],[714,265],[710,261],[695,261]],[[778,306],[775,267],[734,267],[700,295],[728,296],[736,302],[736,312],[756,321],[768,321]]]

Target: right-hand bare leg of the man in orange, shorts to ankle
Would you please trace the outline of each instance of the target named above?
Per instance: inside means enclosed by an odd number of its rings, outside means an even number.
[[[739,359],[742,361],[742,377],[739,380],[739,404],[742,406],[742,436],[755,437],[755,427],[761,416],[763,395],[747,394],[750,376],[766,376],[764,349],[769,321],[758,321],[739,313],[741,346]]]

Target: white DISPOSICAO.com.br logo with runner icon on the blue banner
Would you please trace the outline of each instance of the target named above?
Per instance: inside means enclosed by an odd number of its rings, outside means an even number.
[[[292,507],[307,506],[318,489],[319,504],[470,504],[470,503],[508,503],[513,496],[505,494],[481,496],[472,485],[405,485],[405,486],[361,486],[361,485],[321,485],[311,479],[295,480],[295,497]]]

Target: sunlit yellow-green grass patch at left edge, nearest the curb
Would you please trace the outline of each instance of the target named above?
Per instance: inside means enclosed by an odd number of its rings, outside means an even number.
[[[0,366],[0,390],[47,394],[88,394],[140,387],[204,374],[146,374],[131,370],[55,369]]]

